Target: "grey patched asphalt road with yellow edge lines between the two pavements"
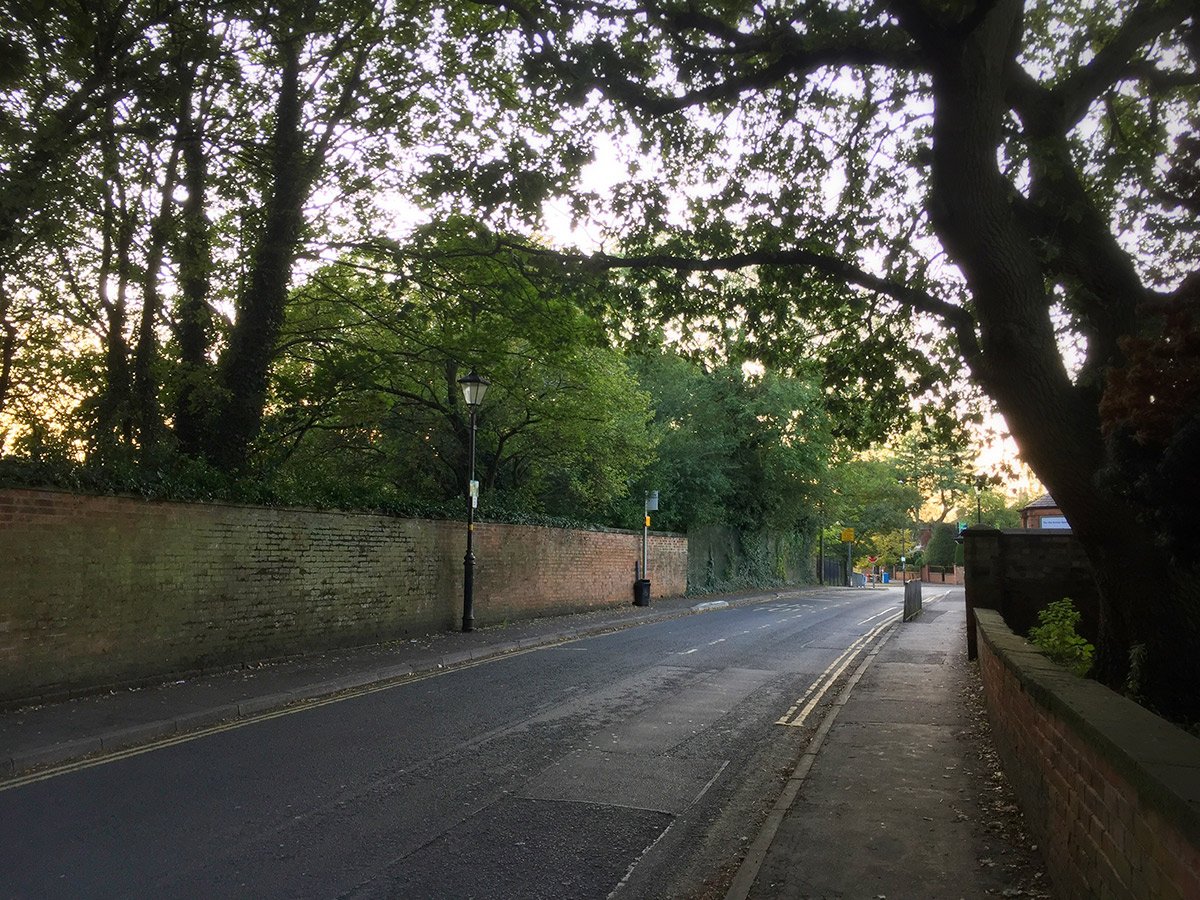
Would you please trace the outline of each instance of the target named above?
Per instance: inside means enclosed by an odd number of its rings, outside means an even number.
[[[0,791],[0,895],[720,896],[898,588],[499,658]]]

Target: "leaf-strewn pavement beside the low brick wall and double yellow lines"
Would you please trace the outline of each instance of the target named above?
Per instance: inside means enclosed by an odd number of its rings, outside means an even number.
[[[1049,896],[998,774],[965,628],[952,588],[858,666],[727,900]]]

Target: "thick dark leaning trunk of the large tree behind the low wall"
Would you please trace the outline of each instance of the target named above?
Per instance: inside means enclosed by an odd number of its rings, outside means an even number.
[[[1048,274],[997,168],[1021,7],[1019,0],[1001,0],[967,34],[935,34],[928,20],[913,23],[937,60],[934,224],[974,299],[982,353],[972,360],[973,374],[1093,565],[1102,599],[1100,677],[1120,689],[1130,652],[1142,646],[1145,665],[1135,674],[1146,700],[1164,714],[1200,720],[1195,590],[1187,593],[1188,581],[1114,490],[1118,486],[1102,478],[1111,469],[1096,373],[1090,385],[1068,376],[1050,317]]]

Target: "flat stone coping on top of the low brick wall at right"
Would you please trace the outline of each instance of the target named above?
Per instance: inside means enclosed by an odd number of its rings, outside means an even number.
[[[1098,682],[1079,678],[1004,624],[974,611],[980,637],[1032,700],[1112,766],[1194,846],[1200,846],[1200,738]]]

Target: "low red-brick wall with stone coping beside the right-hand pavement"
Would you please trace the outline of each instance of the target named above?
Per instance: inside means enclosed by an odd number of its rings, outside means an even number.
[[[1200,898],[1200,739],[976,610],[1004,770],[1064,900]]]

